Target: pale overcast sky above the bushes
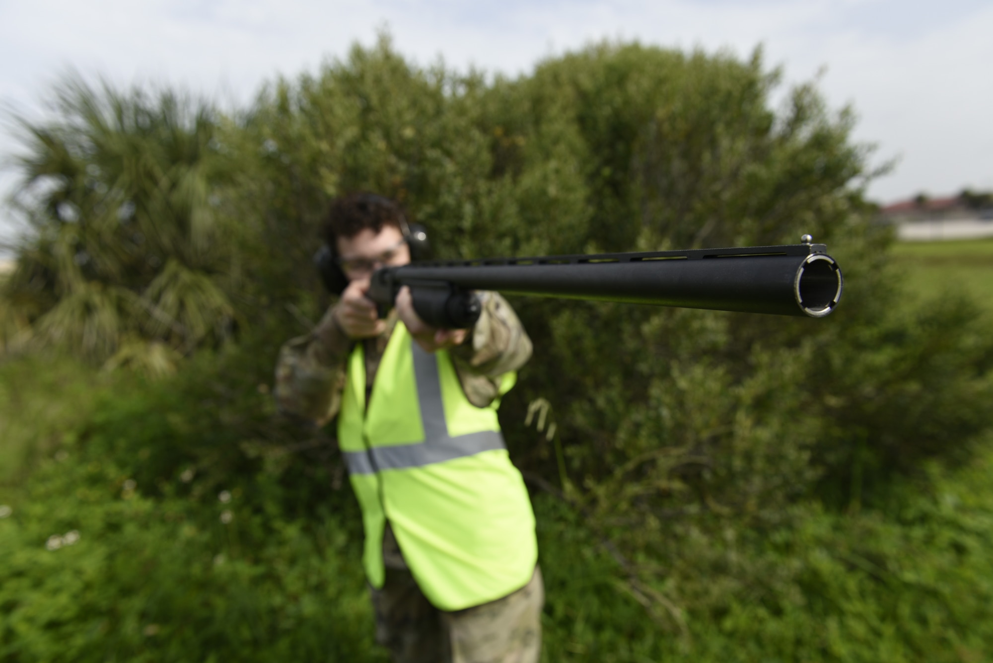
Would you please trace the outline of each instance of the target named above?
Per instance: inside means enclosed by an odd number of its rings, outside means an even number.
[[[70,67],[124,85],[168,82],[231,106],[387,27],[421,65],[530,71],[605,38],[747,57],[764,45],[785,81],[822,67],[856,137],[899,158],[880,201],[993,189],[993,3],[986,0],[0,0],[0,102],[33,112]],[[0,154],[16,149],[0,136]],[[12,176],[0,177],[9,191]],[[0,212],[0,236],[10,217]]]

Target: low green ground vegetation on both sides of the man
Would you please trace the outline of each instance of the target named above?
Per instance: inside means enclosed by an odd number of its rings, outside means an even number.
[[[0,490],[13,510],[0,519],[0,659],[386,660],[333,450],[318,432],[308,449],[242,437],[268,407],[255,354],[106,393]],[[546,660],[982,660],[993,456],[980,449],[901,479],[874,509],[800,500],[775,522],[698,509],[641,543],[537,493]]]

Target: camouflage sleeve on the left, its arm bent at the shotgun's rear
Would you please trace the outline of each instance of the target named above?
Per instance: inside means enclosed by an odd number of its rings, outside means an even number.
[[[338,414],[352,344],[335,322],[333,311],[325,314],[314,331],[287,341],[276,363],[274,395],[280,411],[319,426]]]

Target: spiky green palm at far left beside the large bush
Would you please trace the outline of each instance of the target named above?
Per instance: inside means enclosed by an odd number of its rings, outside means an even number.
[[[53,109],[51,121],[14,118],[30,230],[5,315],[92,357],[118,356],[133,334],[184,354],[222,337],[234,310],[212,275],[233,261],[212,204],[225,168],[210,147],[213,108],[75,75]]]

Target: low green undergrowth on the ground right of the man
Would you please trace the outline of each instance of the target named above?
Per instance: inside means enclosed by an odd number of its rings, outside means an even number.
[[[672,613],[624,583],[630,566],[581,514],[536,501],[549,661],[980,661],[993,655],[993,455],[891,493],[885,509],[790,507],[780,526],[673,528],[662,591]],[[652,564],[662,564],[658,559]],[[644,604],[649,606],[645,610]],[[646,618],[645,612],[653,615]]]

